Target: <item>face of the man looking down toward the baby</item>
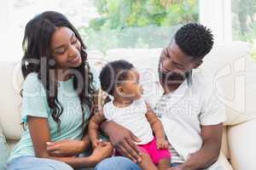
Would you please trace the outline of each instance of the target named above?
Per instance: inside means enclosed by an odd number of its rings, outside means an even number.
[[[201,59],[194,59],[192,56],[184,54],[173,41],[163,49],[160,55],[159,76],[161,85],[166,88],[181,84],[186,79],[186,75],[201,63]]]

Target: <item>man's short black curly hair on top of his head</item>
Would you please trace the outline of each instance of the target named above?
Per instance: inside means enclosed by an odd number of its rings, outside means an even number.
[[[174,36],[177,46],[184,54],[195,59],[204,58],[212,49],[212,31],[197,23],[182,26]]]

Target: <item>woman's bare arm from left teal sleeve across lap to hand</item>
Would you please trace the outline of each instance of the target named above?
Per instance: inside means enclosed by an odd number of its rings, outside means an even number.
[[[49,124],[46,118],[27,116],[28,127],[35,150],[35,156],[41,158],[55,159],[66,162],[72,167],[94,167],[97,162],[111,155],[109,148],[111,144],[100,145],[89,157],[59,157],[50,156],[46,150],[46,143],[49,142]]]

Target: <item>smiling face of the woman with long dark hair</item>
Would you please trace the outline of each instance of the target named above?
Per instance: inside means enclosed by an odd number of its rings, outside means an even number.
[[[50,48],[58,69],[67,70],[81,65],[81,43],[71,29],[57,28],[52,36]]]

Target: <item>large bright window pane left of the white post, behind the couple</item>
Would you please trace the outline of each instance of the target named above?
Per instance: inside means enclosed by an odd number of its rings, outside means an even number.
[[[9,0],[2,4],[7,27],[12,28],[6,30],[13,40],[11,60],[21,58],[27,21],[45,10],[67,15],[89,50],[103,54],[110,48],[162,48],[179,26],[199,19],[199,0]]]

